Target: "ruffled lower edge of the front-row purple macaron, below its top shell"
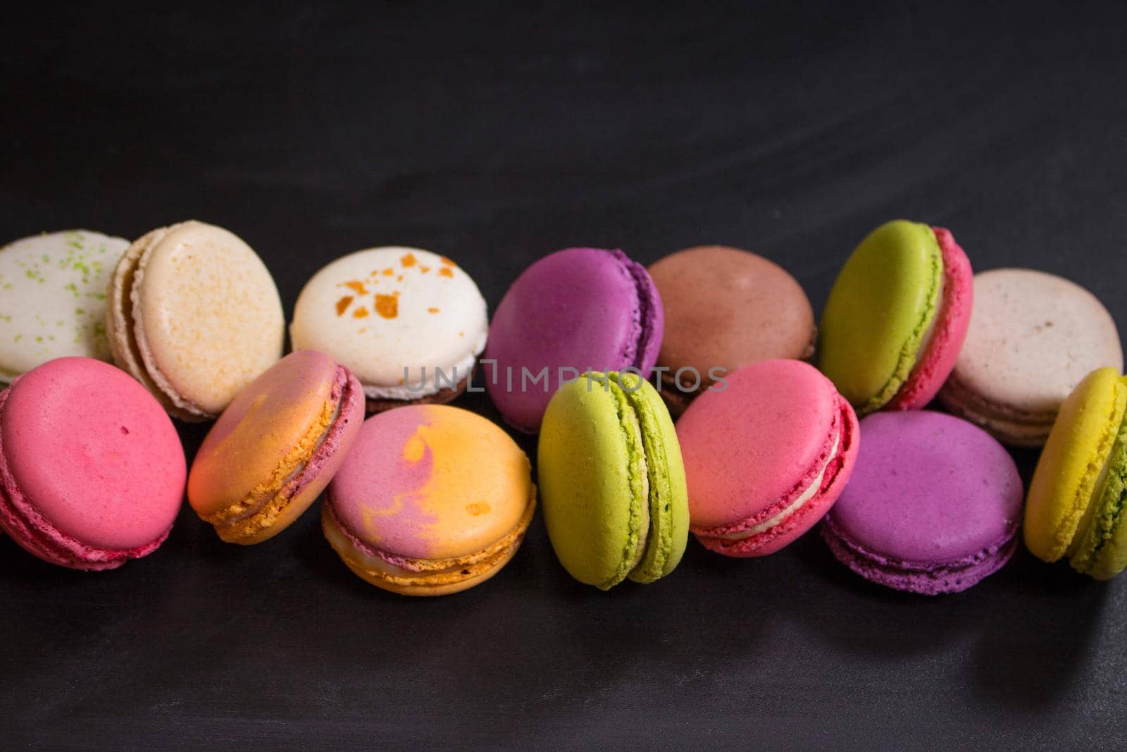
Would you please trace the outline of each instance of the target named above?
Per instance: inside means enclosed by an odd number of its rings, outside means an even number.
[[[825,519],[822,537],[838,561],[866,580],[895,590],[934,595],[957,593],[997,572],[1017,548],[1018,521],[1006,533],[974,555],[948,561],[913,561],[873,551],[851,540],[834,522]]]

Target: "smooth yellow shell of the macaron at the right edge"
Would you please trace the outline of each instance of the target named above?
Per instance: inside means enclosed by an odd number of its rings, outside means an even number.
[[[1068,552],[1125,410],[1127,386],[1112,368],[1092,371],[1061,405],[1029,484],[1023,531],[1033,556],[1056,561]]]

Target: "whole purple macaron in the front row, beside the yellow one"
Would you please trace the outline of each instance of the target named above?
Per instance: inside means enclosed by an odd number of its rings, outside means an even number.
[[[1021,478],[990,434],[921,410],[870,415],[861,435],[853,476],[822,527],[838,561],[878,585],[937,595],[1010,559]]]

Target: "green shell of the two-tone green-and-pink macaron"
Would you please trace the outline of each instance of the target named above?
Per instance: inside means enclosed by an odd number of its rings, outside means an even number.
[[[873,230],[842,267],[822,315],[818,366],[866,414],[907,380],[940,303],[942,256],[926,224]]]

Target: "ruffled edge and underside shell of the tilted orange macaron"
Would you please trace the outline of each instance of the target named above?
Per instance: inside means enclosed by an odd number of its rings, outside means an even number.
[[[347,369],[337,366],[329,400],[320,417],[278,465],[269,481],[259,485],[238,504],[204,516],[215,525],[220,538],[238,541],[268,528],[313,479],[338,450],[345,422],[339,421],[344,408],[361,399]]]

